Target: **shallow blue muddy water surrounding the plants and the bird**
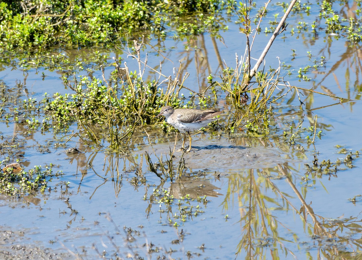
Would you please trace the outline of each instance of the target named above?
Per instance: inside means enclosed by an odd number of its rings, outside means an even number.
[[[292,28],[296,20],[290,20]],[[207,86],[206,76],[218,75],[220,69],[226,68],[223,60],[235,67],[234,53],[243,54],[244,39],[238,31],[231,23],[230,31],[222,33],[226,44],[207,34],[198,36],[192,44],[203,48],[188,51],[184,42],[167,39],[167,48],[159,50],[167,57],[162,60],[163,73],[172,75],[172,68],[181,60],[182,71],[190,73],[186,86],[202,91]],[[308,128],[315,125],[317,115],[317,131],[322,130],[322,135],[314,145],[292,145],[273,135],[265,139],[227,136],[221,131],[218,135],[197,134],[193,136],[192,152],[174,153],[175,166],[184,159],[188,170],[183,178],[171,183],[150,171],[144,155],[147,151],[153,163],[161,155],[169,159],[174,135],[152,141],[152,145],[144,137],[143,143],[131,144],[129,153],[118,154],[95,149],[76,137],[67,142],[67,147],[59,146],[70,139],[77,126],[66,134],[24,134],[26,124],[0,122],[1,142],[14,138],[24,147],[22,157],[12,159],[20,158],[27,169],[51,162],[55,165],[53,172],[59,171],[44,194],[20,198],[1,195],[0,258],[359,257],[362,163],[353,155],[352,166],[345,165],[347,154],[340,153],[341,147],[336,146],[342,146],[348,153],[362,148],[361,70],[357,62],[361,53],[358,47],[346,47],[344,39],[327,36],[328,42],[320,35],[312,43],[286,36],[273,44],[267,66],[278,64],[278,56],[292,65],[291,69],[298,70],[308,64],[307,51],[313,58],[325,56],[323,68],[306,74],[312,81],[299,82],[295,74],[287,80],[291,85],[350,99],[342,103],[338,98],[304,91],[300,95],[305,104],[301,111],[298,99],[289,94],[285,97],[285,103],[275,110],[274,127],[300,123]],[[256,57],[269,36],[261,34],[258,39]],[[160,57],[156,56],[154,45],[156,41],[147,43],[145,52],[153,56],[149,56],[148,65],[157,67]],[[295,58],[291,48],[298,54]],[[107,54],[111,57],[117,53]],[[127,64],[132,66],[132,61]],[[6,64],[5,68],[0,71],[0,80],[9,91],[19,91],[23,99],[41,99],[44,92],[71,92],[56,71],[24,72]],[[112,70],[109,66],[106,73]],[[44,80],[41,72],[47,76]],[[101,77],[97,70],[93,75]],[[16,87],[17,83],[22,86]],[[188,91],[184,94],[188,96]],[[225,101],[220,99],[219,104],[227,113]],[[68,155],[66,150],[70,146],[82,152]],[[176,150],[179,146],[181,139]],[[319,163],[337,159],[342,163],[337,172],[310,172],[313,155]],[[174,198],[172,202],[170,195]],[[30,252],[38,253],[34,256]]]

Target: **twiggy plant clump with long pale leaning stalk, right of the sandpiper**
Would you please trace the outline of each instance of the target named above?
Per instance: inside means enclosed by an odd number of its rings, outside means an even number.
[[[271,128],[270,122],[277,121],[274,118],[274,108],[281,105],[283,98],[287,94],[291,94],[292,99],[298,98],[300,104],[300,110],[303,110],[304,103],[300,99],[300,96],[305,92],[314,92],[321,95],[327,95],[331,97],[337,97],[335,95],[324,94],[316,92],[311,89],[302,88],[299,86],[292,86],[286,81],[286,76],[290,75],[290,71],[283,73],[284,65],[279,60],[279,66],[277,68],[265,68],[265,56],[268,53],[271,45],[277,37],[282,37],[286,32],[288,24],[286,18],[293,13],[306,12],[310,10],[308,3],[303,5],[293,0],[290,4],[278,3],[283,6],[283,16],[278,19],[279,14],[274,14],[275,21],[269,22],[272,26],[267,29],[268,33],[272,33],[269,42],[265,45],[264,50],[256,59],[255,64],[253,60],[253,45],[258,38],[258,34],[261,31],[262,20],[265,18],[268,12],[268,5],[270,1],[265,5],[258,6],[255,2],[242,1],[239,4],[231,3],[232,9],[237,14],[238,23],[240,25],[240,32],[245,36],[245,51],[244,55],[239,57],[235,56],[235,69],[227,66],[220,73],[220,80],[213,78],[211,75],[208,78],[210,85],[216,88],[221,88],[227,95],[227,104],[230,106],[231,113],[229,114],[225,131],[230,135],[235,133],[237,129],[246,131],[247,134],[254,136],[267,136],[269,135]],[[320,3],[321,8],[326,4]],[[254,24],[252,23],[252,17],[255,17]],[[325,16],[326,19],[330,16]],[[340,27],[343,27],[339,25]],[[308,25],[306,23],[298,23],[296,28],[299,30],[307,30]],[[313,27],[315,29],[315,26]],[[327,31],[331,29],[327,29]],[[335,30],[335,29],[334,29]],[[294,28],[291,29],[294,32]],[[295,50],[293,50],[295,55]],[[309,52],[311,65],[307,65],[305,68],[300,68],[298,71],[298,78],[303,81],[310,81],[305,74],[310,70],[317,70],[324,66],[325,57],[321,56],[320,60],[311,60],[312,54]],[[262,63],[264,62],[264,66]],[[345,102],[346,99],[337,97],[341,102]],[[291,102],[290,100],[288,102]],[[316,129],[315,129],[316,130]],[[314,134],[315,136],[315,134]],[[308,137],[307,137],[308,139]],[[314,140],[314,138],[313,138]],[[308,142],[310,140],[308,139]]]

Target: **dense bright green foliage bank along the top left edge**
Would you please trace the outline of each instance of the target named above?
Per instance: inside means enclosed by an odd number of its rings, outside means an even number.
[[[118,33],[123,37],[145,31],[164,37],[165,26],[185,16],[193,16],[193,21],[206,17],[197,28],[194,22],[181,22],[184,29],[178,30],[199,34],[219,30],[218,8],[217,0],[5,0],[0,3],[0,48],[103,45],[118,39]]]

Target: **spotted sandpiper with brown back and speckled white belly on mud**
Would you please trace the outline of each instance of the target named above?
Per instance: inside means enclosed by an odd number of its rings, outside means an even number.
[[[181,150],[185,150],[186,132],[189,134],[190,146],[186,152],[191,151],[191,135],[190,131],[200,129],[208,123],[216,120],[216,116],[222,112],[216,110],[198,110],[191,108],[177,108],[173,109],[170,106],[161,108],[160,113],[156,116],[165,116],[166,121],[175,127],[178,131],[184,134],[184,142],[182,142]]]

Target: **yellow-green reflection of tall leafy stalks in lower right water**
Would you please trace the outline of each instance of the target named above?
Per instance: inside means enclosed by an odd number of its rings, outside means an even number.
[[[274,172],[274,175],[272,174]],[[275,175],[275,173],[278,173]],[[293,196],[278,188],[274,180],[285,179],[295,196],[300,200],[301,207],[293,205]],[[262,190],[263,185],[265,191]],[[272,190],[276,197],[280,196],[282,204],[268,196]],[[257,171],[250,169],[245,174],[232,174],[229,177],[229,188],[223,203],[224,210],[229,208],[233,200],[237,200],[240,207],[241,239],[236,248],[236,255],[245,251],[245,259],[264,259],[271,253],[274,259],[282,255],[295,256],[293,243],[300,243],[299,232],[294,231],[277,219],[273,210],[292,209],[303,221],[304,232],[311,237],[312,242],[304,246],[312,247],[327,259],[335,259],[344,254],[349,248],[358,251],[362,246],[362,239],[355,238],[362,232],[362,220],[358,217],[348,217],[338,220],[328,219],[317,215],[311,203],[306,203],[305,196],[301,194],[292,180],[291,170],[287,163],[278,164],[276,168]],[[294,202],[295,203],[295,202]],[[271,204],[271,205],[270,205]],[[309,217],[311,219],[311,222]],[[298,218],[295,218],[298,220]],[[293,234],[294,239],[281,236],[281,228]],[[296,228],[296,227],[295,227]],[[270,251],[267,250],[270,248]],[[268,253],[269,252],[269,253]],[[308,253],[310,259],[313,257]],[[350,255],[348,253],[348,255]]]

